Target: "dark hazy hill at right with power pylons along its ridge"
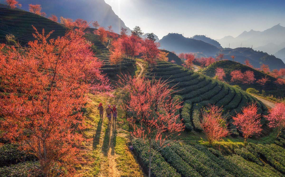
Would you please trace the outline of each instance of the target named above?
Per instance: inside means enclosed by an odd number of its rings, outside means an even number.
[[[221,50],[221,53],[223,53],[224,58],[228,60],[232,60],[231,55],[234,55],[235,61],[242,64],[248,59],[255,68],[260,68],[262,64],[268,65],[271,70],[285,68],[285,64],[281,59],[276,58],[274,55],[268,55],[268,53],[265,52],[255,51],[251,48],[225,48]]]

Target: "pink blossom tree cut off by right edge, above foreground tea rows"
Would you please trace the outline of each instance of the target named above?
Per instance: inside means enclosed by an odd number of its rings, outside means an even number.
[[[279,137],[282,130],[285,129],[285,104],[283,102],[276,103],[274,108],[270,109],[269,114],[265,117],[269,121],[269,127],[277,127],[277,137]]]

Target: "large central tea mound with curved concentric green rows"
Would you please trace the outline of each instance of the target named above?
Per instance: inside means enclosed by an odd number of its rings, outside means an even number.
[[[200,110],[208,104],[223,106],[225,112],[231,115],[240,112],[249,102],[257,102],[259,113],[266,111],[261,102],[246,92],[170,62],[158,62],[149,77],[152,75],[156,79],[169,79],[172,81],[170,86],[178,87],[177,94],[184,101],[181,116],[187,129],[194,126],[194,129],[201,131]],[[238,135],[235,126],[230,125],[233,135]]]

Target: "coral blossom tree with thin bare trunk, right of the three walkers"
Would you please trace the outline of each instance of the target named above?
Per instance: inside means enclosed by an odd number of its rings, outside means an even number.
[[[154,78],[150,81],[144,77],[125,78],[120,83],[129,93],[129,99],[123,108],[134,115],[127,119],[133,128],[131,135],[149,144],[150,176],[153,143],[160,149],[166,147],[171,139],[178,136],[178,132],[184,130],[180,115],[177,114],[182,107],[181,102],[171,97],[175,91],[167,85],[167,81]]]

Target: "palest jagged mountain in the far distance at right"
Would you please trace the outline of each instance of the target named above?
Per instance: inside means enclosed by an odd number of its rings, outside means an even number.
[[[270,54],[275,53],[270,46],[270,43],[280,45],[285,42],[285,27],[277,24],[272,28],[264,31],[244,31],[236,38],[232,36],[226,36],[217,40],[223,47],[238,48],[238,47],[250,47],[253,46],[256,50],[262,49],[263,52]],[[259,47],[264,46],[264,47]],[[258,49],[259,48],[259,49]],[[281,48],[280,48],[281,49]],[[273,53],[272,53],[273,52]]]

